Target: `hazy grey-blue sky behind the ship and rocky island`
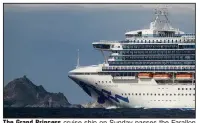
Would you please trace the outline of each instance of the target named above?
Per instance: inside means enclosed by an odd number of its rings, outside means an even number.
[[[68,78],[80,65],[103,62],[92,47],[99,40],[123,40],[130,30],[148,28],[155,4],[4,4],[4,83],[27,75],[71,103],[91,98]],[[172,26],[195,32],[195,6],[167,5]]]

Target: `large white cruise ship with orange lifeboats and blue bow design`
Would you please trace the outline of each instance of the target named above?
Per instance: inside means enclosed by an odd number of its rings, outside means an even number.
[[[155,9],[148,29],[92,45],[104,62],[77,65],[68,76],[98,103],[195,109],[195,34],[173,28],[166,8]]]

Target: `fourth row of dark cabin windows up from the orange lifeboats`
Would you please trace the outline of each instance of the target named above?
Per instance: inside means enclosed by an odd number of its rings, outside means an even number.
[[[119,55],[137,55],[137,54],[195,54],[195,50],[122,50],[112,51]]]

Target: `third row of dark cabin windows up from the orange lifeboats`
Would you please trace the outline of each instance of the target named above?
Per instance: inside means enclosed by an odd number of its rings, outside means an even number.
[[[113,56],[116,60],[195,60],[195,55]]]

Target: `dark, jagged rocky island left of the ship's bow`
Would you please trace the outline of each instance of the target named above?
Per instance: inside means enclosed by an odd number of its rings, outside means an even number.
[[[4,107],[73,107],[63,93],[47,92],[42,85],[36,86],[26,76],[14,79],[4,87]]]

